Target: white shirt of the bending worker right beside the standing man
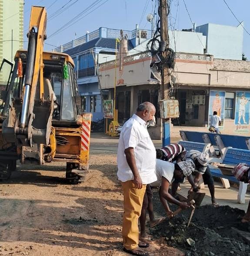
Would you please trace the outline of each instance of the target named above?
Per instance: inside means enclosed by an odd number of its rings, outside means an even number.
[[[152,187],[160,187],[161,186],[161,181],[162,177],[166,178],[169,183],[173,181],[173,172],[174,172],[174,164],[157,159],[156,160],[156,176],[157,176],[157,181],[151,183],[150,185]]]

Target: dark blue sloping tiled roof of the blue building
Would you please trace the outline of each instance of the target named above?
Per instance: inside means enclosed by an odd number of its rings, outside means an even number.
[[[117,43],[117,49],[119,48],[119,45],[120,44]],[[68,55],[76,55],[77,53],[80,53],[82,51],[86,51],[87,49],[91,49],[95,47],[115,49],[116,39],[115,38],[96,38],[87,43],[78,45],[72,49],[64,51],[64,53],[67,53]],[[133,47],[133,44],[131,43],[131,40],[128,40],[128,50],[131,50],[133,48],[134,47]]]

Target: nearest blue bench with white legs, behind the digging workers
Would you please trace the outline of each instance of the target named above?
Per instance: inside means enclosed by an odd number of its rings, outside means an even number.
[[[235,166],[239,163],[246,163],[250,165],[250,150],[227,147],[221,159],[212,158],[210,159],[209,162],[210,163],[215,162],[215,163],[221,163],[221,164],[233,164]],[[240,183],[237,201],[240,204],[245,203],[245,195],[247,192],[246,183],[238,181],[234,176],[223,175],[222,172],[220,171],[220,168],[214,167],[211,164],[208,164],[208,168],[210,169],[213,176],[220,177],[221,179],[223,179],[222,181],[225,188],[230,188],[230,184],[228,180]]]

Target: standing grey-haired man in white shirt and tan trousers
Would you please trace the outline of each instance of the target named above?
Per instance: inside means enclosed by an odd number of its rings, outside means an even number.
[[[147,184],[157,180],[156,151],[147,131],[147,123],[155,115],[155,107],[143,102],[137,113],[123,125],[117,152],[118,179],[124,196],[123,251],[133,255],[148,255],[139,244],[138,218],[140,217]]]

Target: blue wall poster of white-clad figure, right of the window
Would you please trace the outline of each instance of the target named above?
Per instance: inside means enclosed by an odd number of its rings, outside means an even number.
[[[235,100],[235,133],[249,132],[250,92],[236,92]]]

